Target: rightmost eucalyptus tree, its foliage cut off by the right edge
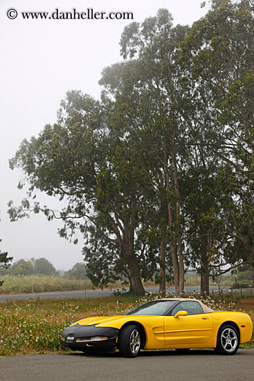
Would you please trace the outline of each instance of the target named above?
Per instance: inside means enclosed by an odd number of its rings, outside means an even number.
[[[193,149],[217,166],[214,203],[200,215],[217,274],[253,260],[253,21],[251,1],[212,1],[181,44]]]

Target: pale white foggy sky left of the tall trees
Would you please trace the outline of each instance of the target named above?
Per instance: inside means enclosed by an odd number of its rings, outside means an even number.
[[[201,0],[0,0],[0,249],[14,261],[45,257],[57,269],[69,269],[82,262],[82,242],[74,246],[60,238],[61,222],[47,222],[44,215],[10,222],[7,202],[20,204],[24,191],[17,190],[21,172],[10,170],[8,159],[22,139],[37,135],[54,123],[60,100],[66,91],[80,89],[100,97],[102,69],[120,60],[119,40],[125,25],[121,20],[22,19],[20,12],[59,11],[133,12],[133,21],[154,16],[167,8],[174,24],[189,24],[205,15]],[[16,19],[6,12],[17,10]],[[55,205],[54,200],[38,197]]]

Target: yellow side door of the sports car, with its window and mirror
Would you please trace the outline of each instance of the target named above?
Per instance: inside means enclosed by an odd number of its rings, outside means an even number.
[[[187,316],[174,317],[179,311]],[[171,316],[164,317],[165,348],[174,344],[201,344],[212,334],[212,317],[203,313],[197,301],[183,301],[172,310]]]

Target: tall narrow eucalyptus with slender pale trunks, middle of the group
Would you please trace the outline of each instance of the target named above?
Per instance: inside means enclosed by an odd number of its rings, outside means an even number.
[[[125,27],[120,46],[129,62],[122,73],[121,87],[115,92],[122,118],[136,132],[137,140],[149,142],[150,185],[156,191],[156,210],[167,229],[161,229],[161,291],[165,292],[165,252],[170,247],[176,294],[183,293],[184,258],[181,233],[181,190],[179,190],[179,153],[183,145],[181,124],[182,96],[179,92],[179,43],[187,26],[172,26],[172,16],[161,9],[143,24]],[[164,284],[164,285],[163,285]]]

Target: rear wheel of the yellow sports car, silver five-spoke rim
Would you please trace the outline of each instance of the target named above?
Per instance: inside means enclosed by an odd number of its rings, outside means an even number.
[[[222,326],[217,336],[215,351],[221,355],[234,355],[239,348],[239,334],[233,326]]]

